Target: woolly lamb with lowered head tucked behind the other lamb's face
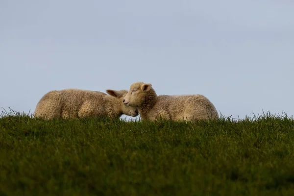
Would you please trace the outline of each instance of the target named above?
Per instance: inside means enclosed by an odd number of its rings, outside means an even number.
[[[50,91],[39,100],[34,116],[43,119],[77,119],[91,116],[108,116],[115,119],[123,114],[136,117],[137,108],[123,104],[123,97],[127,92],[127,90],[107,89],[107,95],[98,91],[80,89]]]

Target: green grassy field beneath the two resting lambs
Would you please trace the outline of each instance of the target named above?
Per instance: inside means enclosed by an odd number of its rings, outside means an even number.
[[[0,196],[294,195],[294,120],[0,118]]]

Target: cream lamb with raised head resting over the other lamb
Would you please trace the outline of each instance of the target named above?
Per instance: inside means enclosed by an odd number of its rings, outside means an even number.
[[[123,98],[126,106],[137,107],[142,120],[195,121],[219,119],[215,106],[203,95],[157,96],[150,83],[133,83]]]

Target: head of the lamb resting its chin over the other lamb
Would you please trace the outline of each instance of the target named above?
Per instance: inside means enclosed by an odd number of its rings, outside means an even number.
[[[145,101],[151,84],[136,82],[131,85],[129,92],[123,98],[123,104],[131,107],[140,107]]]

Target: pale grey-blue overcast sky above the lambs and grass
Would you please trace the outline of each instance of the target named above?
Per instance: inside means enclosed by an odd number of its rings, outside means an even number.
[[[151,83],[219,114],[294,115],[293,0],[1,0],[0,111]],[[123,116],[125,118],[125,116]]]

